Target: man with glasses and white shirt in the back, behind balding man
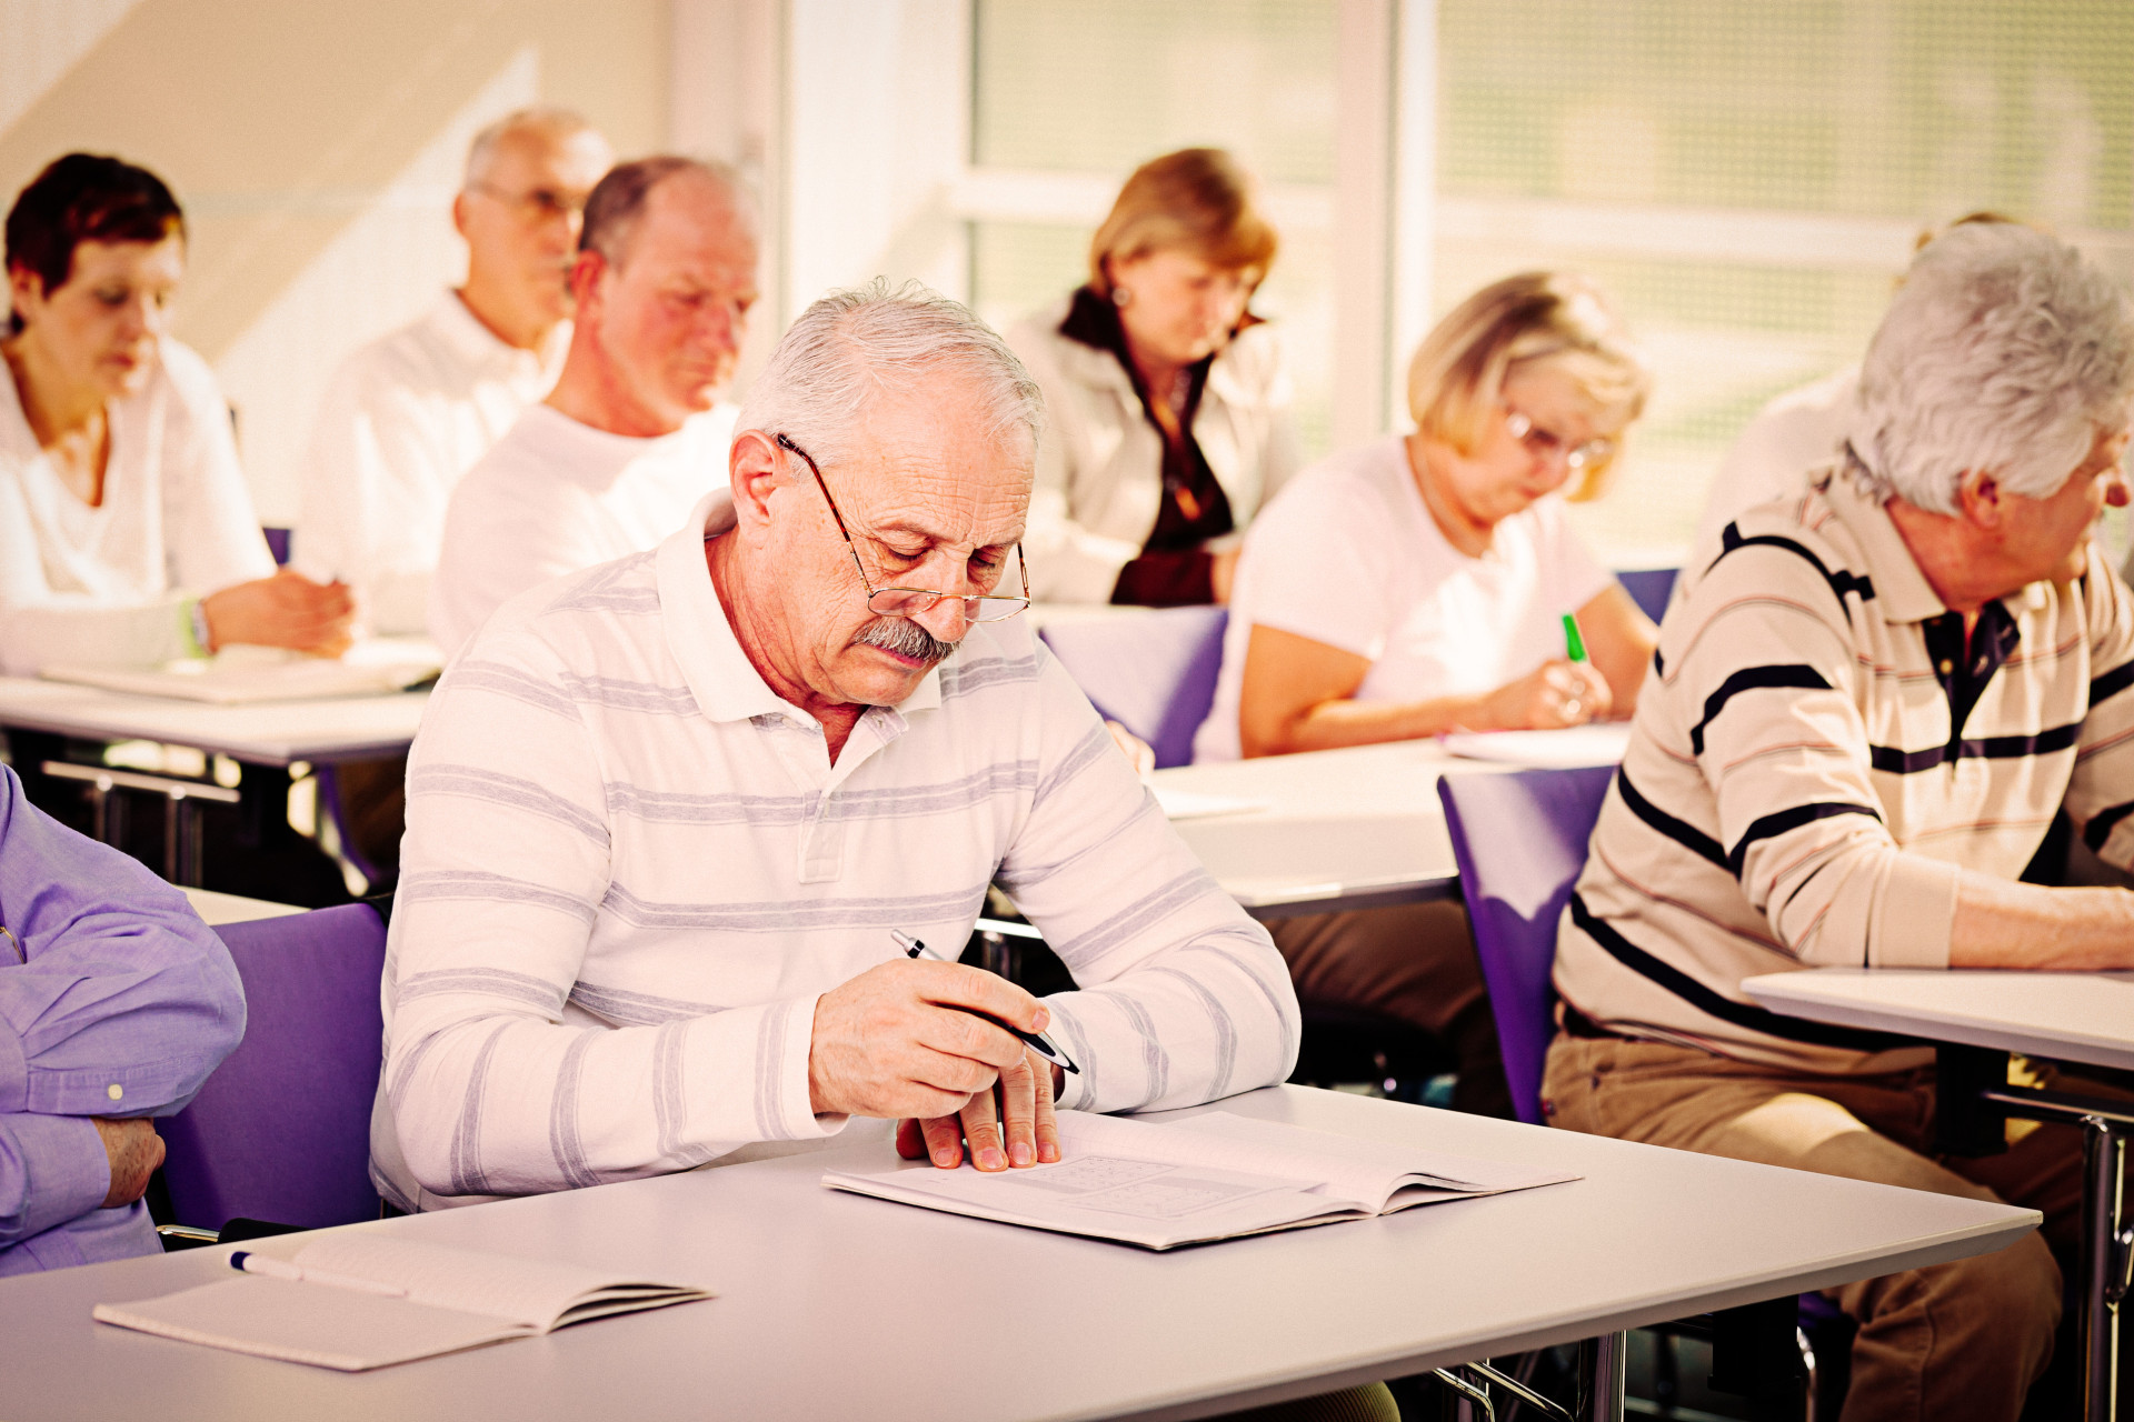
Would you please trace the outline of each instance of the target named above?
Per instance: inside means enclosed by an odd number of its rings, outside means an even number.
[[[452,198],[465,286],[354,350],[327,388],[294,565],[352,584],[373,633],[423,633],[452,486],[555,386],[585,198],[612,162],[568,109],[521,109],[476,134]]]

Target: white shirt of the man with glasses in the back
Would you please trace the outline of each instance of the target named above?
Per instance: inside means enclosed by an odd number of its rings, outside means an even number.
[[[420,633],[452,486],[548,394],[568,350],[570,322],[519,350],[459,292],[354,350],[312,424],[294,567],[352,584],[371,631]]]

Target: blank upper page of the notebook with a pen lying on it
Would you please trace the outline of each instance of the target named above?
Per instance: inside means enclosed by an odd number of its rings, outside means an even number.
[[[365,1230],[327,1234],[299,1249],[297,1264],[397,1283],[414,1303],[487,1313],[540,1332],[555,1328],[574,1303],[606,1286],[638,1283],[576,1264],[423,1245]]]

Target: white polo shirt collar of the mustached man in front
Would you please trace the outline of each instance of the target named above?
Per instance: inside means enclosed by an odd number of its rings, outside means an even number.
[[[755,672],[740,650],[734,625],[726,620],[719,591],[711,586],[704,567],[704,539],[734,527],[734,492],[715,488],[704,495],[689,522],[670,533],[655,554],[659,584],[659,620],[668,650],[681,665],[683,680],[696,706],[708,721],[747,721],[751,716],[794,716],[813,725],[813,716],[781,697]],[[896,718],[911,712],[939,710],[941,667],[933,667],[898,706],[879,708]]]

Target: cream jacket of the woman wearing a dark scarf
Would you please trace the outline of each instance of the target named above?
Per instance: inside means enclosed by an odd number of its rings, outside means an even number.
[[[1108,603],[1118,569],[1142,556],[1157,529],[1163,435],[1118,356],[1061,335],[1069,303],[1007,333],[1046,394],[1022,548],[1037,601]],[[1242,330],[1208,367],[1193,439],[1240,529],[1304,463],[1289,401],[1270,324]]]

